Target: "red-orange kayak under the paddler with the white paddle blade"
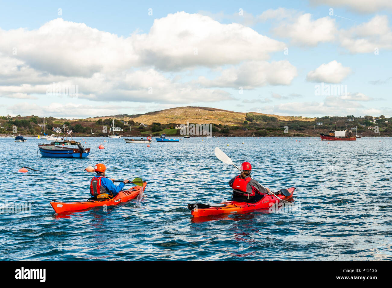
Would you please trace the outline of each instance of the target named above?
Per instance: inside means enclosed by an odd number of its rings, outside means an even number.
[[[285,196],[283,194],[275,195],[279,197],[279,199],[287,200],[292,198],[295,187],[287,189],[289,191],[289,195]],[[201,217],[207,215],[218,215],[224,213],[241,213],[245,211],[258,210],[270,208],[273,203],[280,202],[274,195],[265,195],[260,201],[256,203],[247,203],[247,202],[236,202],[236,201],[227,201],[221,202],[218,204],[188,204],[188,209],[192,210],[193,217]]]

